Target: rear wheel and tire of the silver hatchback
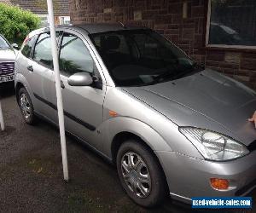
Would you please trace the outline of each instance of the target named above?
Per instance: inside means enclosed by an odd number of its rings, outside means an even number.
[[[26,124],[36,124],[37,117],[34,112],[34,107],[32,106],[31,98],[25,88],[20,88],[18,98],[20,111]]]

